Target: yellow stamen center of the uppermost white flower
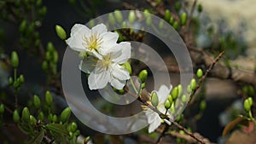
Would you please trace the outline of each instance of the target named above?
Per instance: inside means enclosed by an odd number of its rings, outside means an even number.
[[[102,44],[102,37],[100,37],[97,32],[90,33],[90,37],[83,37],[84,40],[84,47],[90,50],[98,49]]]

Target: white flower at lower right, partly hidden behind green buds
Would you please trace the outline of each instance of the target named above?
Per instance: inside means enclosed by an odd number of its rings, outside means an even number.
[[[166,113],[165,102],[171,90],[172,90],[172,85],[170,86],[169,89],[166,87],[166,85],[161,85],[160,89],[156,91],[156,94],[158,95],[158,100],[159,100],[157,109],[162,113]],[[159,114],[157,112],[154,112],[152,109],[148,107],[143,107],[143,108],[145,110],[144,112],[148,119],[148,124],[149,124],[148,133],[151,133],[160,126],[162,119],[160,118]],[[171,116],[171,113],[168,111],[167,115]]]

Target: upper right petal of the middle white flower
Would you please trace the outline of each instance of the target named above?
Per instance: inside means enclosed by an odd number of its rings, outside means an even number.
[[[122,63],[125,63],[125,61],[130,59],[131,43],[122,42],[122,43],[119,43],[119,45],[117,45],[115,47],[118,47],[118,48],[113,48],[113,49],[119,49],[119,50],[116,52],[113,52],[113,62],[122,64]]]

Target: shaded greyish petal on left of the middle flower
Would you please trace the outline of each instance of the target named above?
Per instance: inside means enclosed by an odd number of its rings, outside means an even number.
[[[88,58],[80,61],[79,69],[85,73],[90,73],[95,69],[96,62],[97,59],[95,57],[89,56]]]

